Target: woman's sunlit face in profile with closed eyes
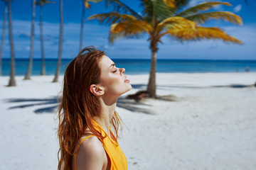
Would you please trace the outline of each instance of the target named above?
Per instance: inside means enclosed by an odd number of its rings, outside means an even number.
[[[104,88],[107,96],[117,96],[132,89],[127,76],[124,75],[124,68],[117,68],[109,57],[103,55],[100,60],[100,86]]]

